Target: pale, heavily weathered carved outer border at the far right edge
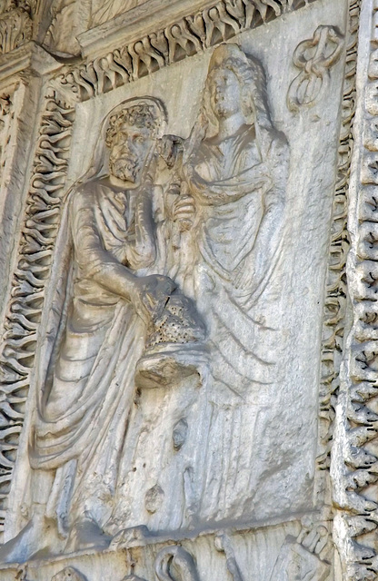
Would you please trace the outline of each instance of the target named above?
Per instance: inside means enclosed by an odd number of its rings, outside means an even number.
[[[374,27],[378,5],[376,2],[371,5]],[[362,159],[354,176],[356,208],[354,214],[351,206],[350,215],[353,245],[347,273],[353,327],[344,356],[332,462],[334,537],[345,581],[373,581],[378,576],[376,533],[373,533],[378,526],[378,452],[374,442],[378,437],[377,47],[378,37],[373,31],[362,104]]]

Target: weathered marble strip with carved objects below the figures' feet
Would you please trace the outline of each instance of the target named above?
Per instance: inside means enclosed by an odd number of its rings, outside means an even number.
[[[146,546],[134,540],[128,543],[128,549],[118,548],[104,553],[87,550],[81,555],[35,560],[27,566],[0,570],[6,581],[8,578],[13,580],[21,571],[30,581],[71,580],[67,574],[74,575],[72,569],[76,575],[79,574],[74,577],[75,581],[83,581],[83,577],[94,581],[114,578],[119,581],[327,578],[326,560],[330,552],[323,530],[315,535],[309,535],[305,527],[300,531],[301,524],[293,521],[272,525],[269,532],[267,528],[236,534],[221,531],[215,536],[207,534],[193,540],[182,539],[178,545],[177,541],[173,544],[162,538],[157,544],[151,539],[151,545]],[[171,561],[168,568],[167,561]],[[67,567],[72,568],[67,570]],[[55,579],[59,574],[61,577]]]

